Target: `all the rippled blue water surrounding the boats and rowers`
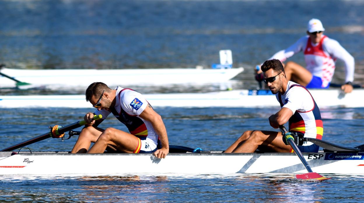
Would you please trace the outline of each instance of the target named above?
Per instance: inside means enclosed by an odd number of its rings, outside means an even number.
[[[245,72],[237,88],[255,88],[253,67],[288,47],[320,19],[356,62],[364,83],[364,1],[361,0],[0,0],[0,63],[13,68],[187,68],[218,63],[231,49]],[[303,55],[291,58],[304,65]],[[337,64],[334,82],[343,82]],[[201,92],[211,86],[163,86],[153,92]],[[60,92],[1,92],[0,94]],[[61,92],[62,93],[62,92]],[[79,92],[70,92],[79,93]],[[158,108],[171,145],[224,150],[245,130],[272,130],[278,110]],[[0,109],[0,149],[67,125],[92,109]],[[354,147],[364,143],[364,109],[321,109],[324,140]],[[114,119],[101,127],[126,130]],[[71,150],[75,138],[47,139],[32,150]],[[291,175],[125,175],[40,177],[0,175],[0,202],[361,202],[363,176],[330,175],[322,183]],[[292,178],[292,177],[291,177]]]

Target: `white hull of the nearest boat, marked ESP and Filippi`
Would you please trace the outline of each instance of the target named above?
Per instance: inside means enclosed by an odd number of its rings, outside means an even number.
[[[0,174],[118,175],[305,173],[294,153],[68,154],[0,152]],[[364,174],[364,153],[303,153],[317,173]]]

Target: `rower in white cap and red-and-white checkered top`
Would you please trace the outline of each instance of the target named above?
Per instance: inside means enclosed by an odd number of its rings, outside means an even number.
[[[296,43],[287,49],[274,54],[270,59],[278,59],[284,62],[287,58],[298,52],[304,52],[306,68],[289,61],[284,70],[288,80],[297,82],[306,88],[328,88],[332,80],[336,60],[339,59],[345,65],[345,84],[341,89],[345,93],[353,90],[354,58],[345,50],[339,42],[323,34],[325,28],[318,19],[308,22],[307,36],[301,37]],[[261,80],[261,70],[257,68],[256,79]]]

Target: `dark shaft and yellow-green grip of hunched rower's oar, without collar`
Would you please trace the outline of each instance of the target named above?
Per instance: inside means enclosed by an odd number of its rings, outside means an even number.
[[[102,118],[102,115],[95,115],[95,116],[94,116],[94,120],[98,120],[98,119],[100,119],[100,118]],[[72,123],[72,124],[70,124],[70,125],[60,127],[60,128],[58,129],[58,133],[59,133],[59,134],[63,134],[63,133],[65,133],[65,132],[67,132],[67,131],[70,131],[70,130],[76,129],[76,128],[78,128],[78,127],[80,127],[80,126],[83,126],[83,125],[85,125],[85,124],[86,124],[86,122],[85,122],[84,120],[82,120],[82,121],[77,121],[77,122]],[[30,144],[32,144],[32,143],[42,141],[42,140],[47,139],[47,138],[50,138],[50,137],[52,137],[52,136],[50,135],[50,132],[48,132],[48,133],[45,133],[45,134],[40,135],[40,136],[38,136],[38,137],[35,137],[35,138],[32,138],[32,139],[29,139],[29,140],[27,140],[27,141],[25,141],[25,142],[21,142],[21,143],[18,143],[18,144],[16,144],[16,145],[13,145],[13,146],[11,146],[11,147],[8,147],[8,148],[5,148],[5,149],[2,149],[1,151],[12,151],[12,150],[18,149],[18,148],[20,148],[20,147],[24,147],[24,146],[30,145]]]

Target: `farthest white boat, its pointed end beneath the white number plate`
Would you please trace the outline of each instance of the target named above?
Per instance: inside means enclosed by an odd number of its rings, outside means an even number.
[[[91,82],[107,81],[115,85],[166,85],[166,84],[204,84],[226,82],[244,68],[229,69],[52,69],[30,70],[3,68],[0,73],[11,78],[0,76],[0,88],[14,88],[21,85],[18,82],[32,86],[44,86],[49,89],[59,87],[85,87]]]

